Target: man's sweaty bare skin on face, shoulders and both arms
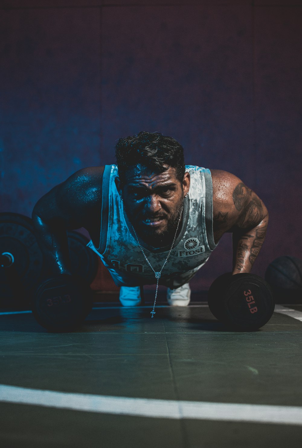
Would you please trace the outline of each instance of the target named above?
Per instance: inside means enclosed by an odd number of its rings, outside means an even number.
[[[49,275],[70,273],[67,230],[86,228],[94,246],[99,247],[103,171],[104,167],[83,168],[35,205],[33,223]],[[233,274],[250,272],[264,241],[268,211],[238,177],[222,170],[210,171],[215,243],[231,232]],[[181,183],[175,168],[160,173],[138,165],[127,172],[126,185],[117,179],[116,186],[138,236],[153,247],[172,243],[183,197],[190,187],[189,173]]]

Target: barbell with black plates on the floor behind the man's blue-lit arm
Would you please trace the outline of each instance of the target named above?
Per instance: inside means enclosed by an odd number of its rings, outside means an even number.
[[[68,232],[71,271],[88,283],[98,270],[98,256],[87,247],[88,238]],[[0,306],[27,307],[45,276],[51,275],[38,246],[31,218],[18,213],[0,213]]]

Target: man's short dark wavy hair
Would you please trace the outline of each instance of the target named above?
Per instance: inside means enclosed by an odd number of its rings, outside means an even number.
[[[115,145],[115,158],[119,180],[126,183],[129,168],[142,164],[159,172],[169,167],[176,169],[176,178],[182,183],[185,174],[183,147],[172,137],[159,132],[140,132],[130,137],[119,138]],[[164,168],[163,165],[168,165]]]

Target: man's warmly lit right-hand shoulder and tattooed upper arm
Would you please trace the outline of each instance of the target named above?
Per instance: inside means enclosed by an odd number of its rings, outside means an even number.
[[[257,225],[268,211],[261,199],[234,174],[211,169],[213,229],[218,239],[225,232]]]

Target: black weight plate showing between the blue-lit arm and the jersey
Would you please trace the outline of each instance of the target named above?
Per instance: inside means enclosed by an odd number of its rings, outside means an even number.
[[[84,235],[74,230],[67,234],[72,274],[90,284],[98,271],[98,255],[86,246],[89,240]]]

